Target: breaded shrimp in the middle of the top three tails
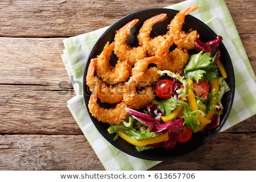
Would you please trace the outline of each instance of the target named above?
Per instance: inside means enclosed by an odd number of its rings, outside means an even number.
[[[158,49],[158,45],[165,38],[162,35],[158,35],[155,38],[151,38],[150,33],[155,24],[163,22],[167,19],[167,14],[162,13],[144,21],[141,29],[139,30],[139,34],[137,35],[137,39],[139,41],[139,45],[144,47],[150,56],[154,56],[156,49]]]

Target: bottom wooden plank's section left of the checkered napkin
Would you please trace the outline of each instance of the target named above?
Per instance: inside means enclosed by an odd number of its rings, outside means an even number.
[[[0,170],[104,170],[84,135],[1,135]]]

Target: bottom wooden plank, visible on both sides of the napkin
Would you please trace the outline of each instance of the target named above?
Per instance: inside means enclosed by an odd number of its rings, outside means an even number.
[[[0,148],[0,170],[104,170],[83,135],[2,135]],[[255,133],[218,134],[193,154],[150,170],[255,170],[255,151]]]

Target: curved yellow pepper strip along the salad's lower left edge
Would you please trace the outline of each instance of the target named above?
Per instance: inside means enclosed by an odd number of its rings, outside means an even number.
[[[128,135],[126,135],[125,133],[123,133],[122,131],[118,131],[117,134],[119,135],[119,137],[126,140],[128,143],[133,144],[134,146],[147,146],[148,144],[160,143],[169,139],[168,132],[162,135],[156,136],[154,138],[143,139],[143,140],[135,140],[129,137]]]

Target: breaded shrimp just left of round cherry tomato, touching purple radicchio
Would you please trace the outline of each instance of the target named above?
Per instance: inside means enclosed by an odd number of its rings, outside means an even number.
[[[125,85],[123,101],[133,109],[141,109],[155,99],[154,89],[151,86],[145,87],[143,90],[137,92],[137,83],[142,75],[143,72],[131,76]]]

